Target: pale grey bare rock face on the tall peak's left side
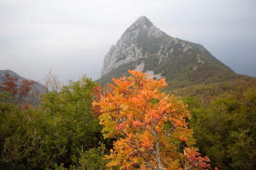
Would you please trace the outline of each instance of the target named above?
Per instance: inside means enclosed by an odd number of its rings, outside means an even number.
[[[101,75],[106,75],[118,66],[145,57],[142,54],[142,48],[138,46],[138,39],[141,34],[156,38],[165,35],[148,18],[141,16],[125,31],[117,41],[117,44],[110,48],[110,51],[104,58]]]

